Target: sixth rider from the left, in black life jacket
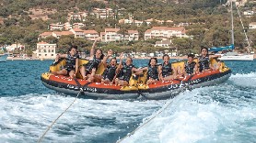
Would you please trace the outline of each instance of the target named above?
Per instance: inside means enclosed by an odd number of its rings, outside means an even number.
[[[165,54],[163,60],[164,62],[159,66],[159,78],[161,81],[173,80],[176,76],[176,70],[174,70],[169,62],[169,55]]]

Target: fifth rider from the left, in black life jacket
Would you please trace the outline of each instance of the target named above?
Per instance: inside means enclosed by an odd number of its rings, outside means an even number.
[[[159,81],[160,68],[157,66],[157,58],[151,58],[147,64],[147,67],[140,69],[141,71],[147,71],[146,84],[152,84]]]

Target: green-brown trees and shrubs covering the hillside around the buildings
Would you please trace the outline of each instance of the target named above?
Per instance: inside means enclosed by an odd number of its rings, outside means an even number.
[[[221,2],[221,4],[220,4]],[[22,43],[26,46],[28,53],[36,49],[38,36],[48,30],[50,23],[66,22],[69,12],[91,11],[95,7],[111,7],[115,12],[115,17],[107,19],[98,19],[93,16],[87,17],[84,29],[95,29],[98,32],[104,28],[121,28],[120,33],[125,34],[128,29],[136,29],[140,34],[140,41],[117,41],[115,43],[101,43],[102,49],[115,48],[120,50],[133,50],[152,52],[156,49],[152,46],[152,40],[144,41],[144,32],[146,29],[154,26],[172,27],[183,23],[190,23],[186,27],[187,34],[193,36],[190,38],[173,38],[173,46],[180,50],[180,53],[198,52],[200,46],[207,47],[224,46],[231,42],[230,39],[230,9],[223,6],[227,0],[0,0],[0,45],[10,43]],[[240,11],[255,9],[256,4],[248,3],[244,7],[239,7]],[[32,19],[29,9],[46,9],[46,11],[56,10],[54,14],[45,14],[50,17],[49,20]],[[121,10],[122,9],[122,10]],[[243,29],[239,22],[238,13],[234,7],[234,29],[235,45],[242,49],[247,46]],[[119,15],[122,14],[122,15]],[[172,20],[172,24],[164,23],[162,25],[153,22],[150,26],[144,23],[141,27],[134,25],[119,24],[121,18],[128,18],[132,15],[135,20],[145,20],[149,18]],[[256,16],[242,17],[245,30],[248,32],[251,46],[256,48],[256,31],[249,30],[249,23],[256,22]],[[77,21],[79,22],[79,21]],[[81,21],[80,21],[81,22]],[[76,44],[81,50],[89,48],[92,44],[87,39],[62,37],[44,39],[50,43],[58,44],[59,50],[64,52],[72,44]]]

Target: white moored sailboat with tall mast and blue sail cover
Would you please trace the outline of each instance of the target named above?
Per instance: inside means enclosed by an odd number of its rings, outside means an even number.
[[[235,45],[234,45],[234,23],[233,23],[233,1],[230,0],[230,5],[231,5],[231,25],[232,25],[232,29],[231,29],[231,36],[232,36],[232,44],[229,45],[229,46],[226,46],[226,47],[220,47],[220,48],[211,48],[209,49],[209,51],[214,51],[214,52],[218,52],[218,51],[223,51],[223,50],[227,50],[228,52],[226,52],[225,54],[221,54],[221,58],[219,58],[219,60],[253,60],[253,54],[250,54],[250,51],[248,54],[244,54],[244,53],[238,53],[238,52],[235,52],[234,49],[235,49]],[[237,7],[237,10],[239,12],[239,9]],[[243,23],[241,21],[241,17],[240,17],[240,14],[239,14],[239,19],[240,19],[240,22],[241,22],[241,25],[244,29],[244,26],[243,26]],[[248,40],[248,37],[246,35],[246,32],[244,30],[244,34],[245,34],[245,37],[246,37],[246,40],[248,42],[248,45],[249,45],[249,50],[250,50],[250,42]]]

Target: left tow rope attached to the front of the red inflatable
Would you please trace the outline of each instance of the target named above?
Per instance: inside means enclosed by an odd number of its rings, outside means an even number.
[[[69,105],[67,106],[67,108],[65,108],[64,112],[63,112],[61,115],[59,115],[54,121],[52,121],[52,124],[51,124],[50,126],[47,127],[47,129],[44,131],[44,133],[43,133],[43,134],[41,135],[41,137],[39,138],[39,140],[38,140],[39,143],[42,141],[43,137],[47,134],[47,132],[52,128],[53,124],[54,124],[62,115],[64,115],[64,113],[71,107],[72,104],[74,104],[74,103],[76,102],[76,99],[78,98],[78,96],[80,95],[80,93],[83,93],[83,92],[84,92],[84,91],[83,91],[83,88],[81,87],[81,84],[77,81],[77,79],[74,78],[74,80],[76,81],[76,84],[77,84],[77,85],[79,86],[79,88],[80,88],[79,93],[77,93],[75,100],[74,100],[71,104],[69,104]],[[78,84],[78,83],[79,83],[79,84]]]

